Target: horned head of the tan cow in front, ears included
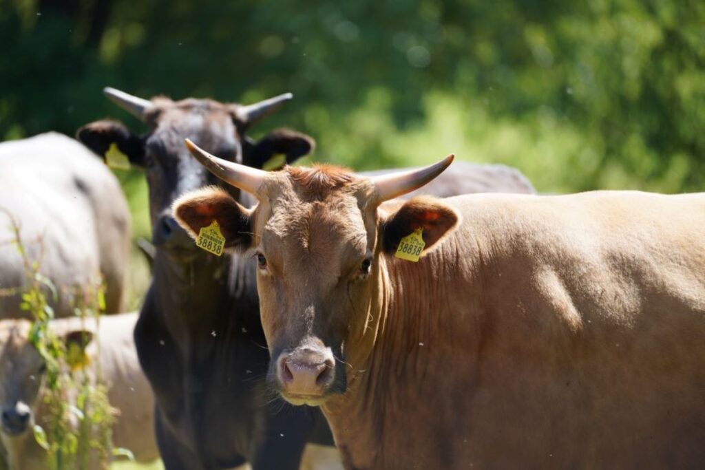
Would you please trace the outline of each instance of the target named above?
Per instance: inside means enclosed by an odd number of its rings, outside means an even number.
[[[247,210],[207,188],[178,199],[174,214],[191,236],[215,219],[226,246],[256,249],[271,383],[293,404],[317,405],[344,392],[344,358],[374,335],[385,302],[386,256],[418,228],[428,252],[458,222],[453,209],[431,197],[391,211],[380,204],[432,180],[453,157],[368,179],[330,166],[265,173],[188,145],[212,172],[259,200]]]

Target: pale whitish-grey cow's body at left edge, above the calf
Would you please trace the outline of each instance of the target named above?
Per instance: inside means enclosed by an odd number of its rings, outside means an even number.
[[[106,286],[106,311],[123,309],[130,214],[118,181],[80,143],[49,132],[0,144],[0,319],[20,310],[27,283],[13,221],[30,262],[56,286],[57,317],[73,314],[86,285]]]

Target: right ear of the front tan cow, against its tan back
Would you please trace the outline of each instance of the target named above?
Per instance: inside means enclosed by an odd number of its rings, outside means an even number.
[[[441,199],[429,196],[410,199],[397,211],[381,217],[382,251],[394,254],[401,239],[420,228],[426,244],[422,253],[426,253],[452,233],[459,220],[455,209],[443,204]]]

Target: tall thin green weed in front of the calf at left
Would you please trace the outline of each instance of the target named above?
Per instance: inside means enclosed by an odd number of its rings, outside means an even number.
[[[29,340],[47,365],[39,405],[44,413],[42,421],[34,426],[35,440],[47,450],[49,470],[87,470],[97,465],[107,468],[113,452],[115,410],[109,404],[99,364],[90,364],[85,344],[67,344],[51,329],[54,310],[47,301],[47,287],[54,299],[56,288],[39,273],[39,262],[29,259],[20,225],[8,216],[27,276],[20,307],[34,319]],[[87,330],[88,323],[93,323],[97,330],[105,303],[102,285],[82,286],[75,294],[75,314],[81,329]]]

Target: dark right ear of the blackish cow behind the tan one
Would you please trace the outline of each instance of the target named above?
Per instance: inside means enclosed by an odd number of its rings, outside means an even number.
[[[247,149],[243,163],[263,168],[271,157],[283,154],[287,164],[308,155],[316,147],[313,137],[289,129],[278,129],[262,137]]]

